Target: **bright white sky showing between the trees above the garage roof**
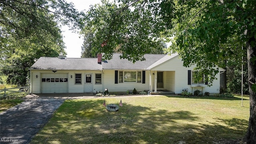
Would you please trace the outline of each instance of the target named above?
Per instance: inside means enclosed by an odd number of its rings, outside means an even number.
[[[73,2],[77,10],[82,11],[89,10],[90,5],[101,3],[101,0],[66,0],[67,2]],[[62,26],[63,41],[66,45],[67,58],[80,58],[81,57],[81,46],[84,38],[77,33],[68,30],[68,26]]]

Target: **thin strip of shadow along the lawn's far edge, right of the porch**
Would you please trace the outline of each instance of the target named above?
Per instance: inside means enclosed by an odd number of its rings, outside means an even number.
[[[216,97],[216,96],[181,96],[181,95],[164,95],[169,98],[193,98],[193,99],[209,99],[209,100],[242,100],[242,98],[239,98],[238,96],[234,97]],[[244,96],[243,100],[249,100],[249,96]]]

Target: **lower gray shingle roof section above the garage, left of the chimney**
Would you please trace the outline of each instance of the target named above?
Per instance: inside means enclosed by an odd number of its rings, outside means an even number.
[[[41,70],[102,70],[97,58],[40,57],[30,69]]]

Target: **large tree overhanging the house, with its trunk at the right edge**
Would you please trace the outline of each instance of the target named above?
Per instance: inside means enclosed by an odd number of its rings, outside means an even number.
[[[94,29],[95,50],[108,56],[121,44],[122,58],[143,60],[140,57],[150,50],[154,40],[161,36],[174,37],[169,52],[178,52],[184,66],[196,64],[198,76],[207,75],[206,80],[211,84],[218,73],[216,65],[231,59],[241,60],[247,51],[250,118],[244,142],[255,144],[256,3],[247,0],[118,2],[116,6],[102,1],[102,6],[92,6],[86,15],[85,29]]]

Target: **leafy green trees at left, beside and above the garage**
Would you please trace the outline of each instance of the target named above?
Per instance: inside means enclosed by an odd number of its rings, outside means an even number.
[[[25,85],[34,58],[65,53],[59,27],[81,28],[82,14],[65,0],[0,0],[0,70],[8,83]]]

